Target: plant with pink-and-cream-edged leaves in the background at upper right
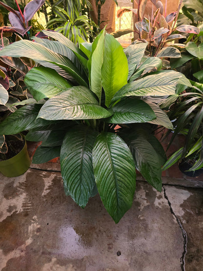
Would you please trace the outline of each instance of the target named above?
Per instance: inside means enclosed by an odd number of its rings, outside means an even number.
[[[118,10],[117,17],[120,18],[124,12],[133,12],[137,21],[135,23],[135,32],[139,35],[140,42],[148,42],[146,51],[149,53],[150,56],[180,57],[180,51],[175,48],[174,44],[172,44],[171,42],[176,41],[177,39],[185,38],[180,33],[199,34],[200,32],[200,29],[193,25],[181,25],[178,27],[176,26],[182,0],[180,0],[177,11],[172,12],[167,16],[167,0],[165,10],[161,1],[151,0],[157,10],[154,12],[152,6],[152,14],[148,16],[148,19],[144,17],[144,10],[147,4],[146,1],[136,1],[138,5],[137,9],[120,9]],[[177,44],[176,47],[183,46],[184,44]]]

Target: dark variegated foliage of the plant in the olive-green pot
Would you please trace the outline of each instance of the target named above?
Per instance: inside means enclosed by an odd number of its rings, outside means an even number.
[[[0,40],[0,50],[9,45],[5,37]],[[17,110],[20,101],[31,99],[23,82],[25,74],[34,66],[33,61],[26,58],[0,58],[0,123]],[[20,134],[0,136],[0,159],[6,160],[16,153],[15,142],[24,139]]]

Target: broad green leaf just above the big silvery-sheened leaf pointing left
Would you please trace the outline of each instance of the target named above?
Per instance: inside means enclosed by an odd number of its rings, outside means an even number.
[[[72,86],[55,70],[46,67],[32,68],[26,74],[24,82],[37,101],[54,97]]]

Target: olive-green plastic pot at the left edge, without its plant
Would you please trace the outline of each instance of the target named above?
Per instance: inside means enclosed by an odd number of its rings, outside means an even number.
[[[30,167],[31,160],[27,151],[27,143],[14,157],[0,161],[0,172],[6,177],[17,177]]]

